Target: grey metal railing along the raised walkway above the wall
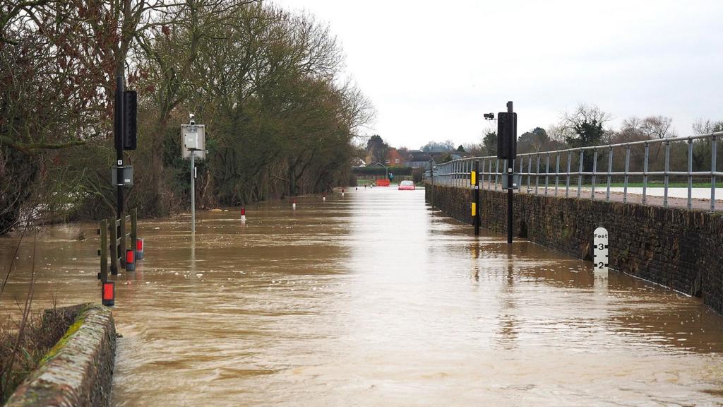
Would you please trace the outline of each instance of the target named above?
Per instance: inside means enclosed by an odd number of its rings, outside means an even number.
[[[576,198],[589,196],[594,200],[598,194],[601,194],[600,198],[602,198],[602,192],[597,189],[604,187],[604,199],[610,201],[613,178],[622,178],[624,203],[628,202],[628,185],[631,178],[641,178],[641,203],[643,205],[649,204],[648,188],[651,177],[660,177],[663,183],[663,206],[665,207],[669,204],[669,189],[674,188],[670,186],[671,180],[682,180],[679,182],[685,182],[688,188],[688,209],[693,207],[693,179],[705,178],[706,182],[710,182],[710,209],[714,211],[716,209],[716,178],[723,177],[723,172],[716,170],[716,161],[719,159],[717,144],[722,140],[722,136],[723,132],[716,132],[688,137],[538,151],[518,154],[517,159],[513,160],[513,167],[515,170],[518,169],[515,175],[522,177],[521,183],[526,177],[526,185],[521,185],[521,190],[526,187],[527,193],[536,195],[544,193],[545,196],[548,194],[557,196],[558,191],[561,193],[564,188],[565,197],[570,196],[572,189]],[[685,143],[687,143],[687,148],[684,146]],[[653,159],[651,159],[651,147],[656,147]],[[695,151],[696,147],[697,151]],[[642,154],[639,154],[641,153],[639,149],[642,149]],[[664,149],[664,155],[660,156],[659,153],[662,149]],[[635,157],[631,157],[633,151],[636,152]],[[624,154],[624,159],[620,158],[621,152]],[[687,159],[681,159],[680,157],[686,152]],[[671,169],[672,158],[676,159],[675,164],[679,164],[679,166],[685,162],[687,168],[685,170]],[[723,157],[721,158],[723,159]],[[502,190],[502,170],[507,168],[507,160],[497,159],[497,156],[470,157],[437,164],[432,182],[435,185],[471,188],[469,176],[473,161],[480,161],[480,188]],[[607,168],[600,171],[600,164]],[[632,168],[631,164],[638,169]],[[560,171],[561,165],[562,171]],[[651,170],[651,167],[654,166],[660,168]],[[693,167],[698,167],[698,169],[694,171]],[[701,167],[706,167],[707,170],[701,170]],[[573,171],[573,169],[577,169],[577,171]],[[600,182],[601,177],[602,182]],[[577,181],[577,188],[574,186],[570,188],[570,181]],[[560,185],[560,182],[563,182],[564,185]]]

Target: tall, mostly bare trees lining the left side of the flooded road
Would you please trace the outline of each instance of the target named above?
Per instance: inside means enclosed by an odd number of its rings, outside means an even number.
[[[207,130],[201,206],[346,183],[373,110],[327,26],[255,0],[15,0],[0,9],[0,234],[114,212],[116,76],[138,92],[127,206],[185,209],[180,125]]]

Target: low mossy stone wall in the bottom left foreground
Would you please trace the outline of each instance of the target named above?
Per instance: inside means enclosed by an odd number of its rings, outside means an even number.
[[[5,406],[108,406],[115,354],[111,311],[84,304],[65,335]]]

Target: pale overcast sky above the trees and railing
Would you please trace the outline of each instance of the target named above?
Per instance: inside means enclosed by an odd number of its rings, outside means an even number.
[[[276,0],[328,23],[392,146],[479,143],[484,112],[518,133],[596,104],[612,127],[723,119],[723,1]]]

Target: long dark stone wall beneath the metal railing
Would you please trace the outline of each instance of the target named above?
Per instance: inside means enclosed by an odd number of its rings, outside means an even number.
[[[471,222],[469,188],[434,186],[434,204]],[[425,190],[427,202],[432,188]],[[480,191],[482,227],[506,234],[507,193]],[[592,259],[592,234],[609,232],[609,266],[703,298],[723,314],[723,214],[515,193],[514,235]]]

